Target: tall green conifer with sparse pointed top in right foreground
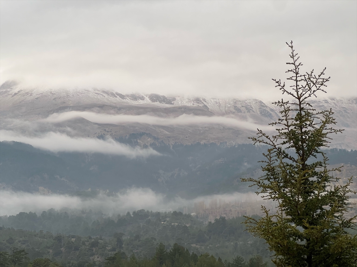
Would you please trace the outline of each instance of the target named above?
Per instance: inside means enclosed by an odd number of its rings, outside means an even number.
[[[247,217],[247,230],[266,240],[275,252],[273,262],[278,267],[355,266],[357,263],[357,237],[348,232],[356,230],[356,216],[346,219],[350,208],[352,177],[346,184],[331,176],[328,158],[322,150],[328,147],[336,124],[332,110],[317,111],[309,100],[318,92],[325,92],[325,69],[318,75],[301,73],[299,57],[292,42],[292,62],[287,64],[292,82],[286,87],[281,80],[273,79],[276,87],[292,100],[277,101],[281,118],[271,123],[276,135],[269,136],[258,129],[254,144],[269,148],[262,161],[263,175],[259,179],[242,179],[257,186],[257,194],[276,203],[276,213],[262,206],[261,219]]]

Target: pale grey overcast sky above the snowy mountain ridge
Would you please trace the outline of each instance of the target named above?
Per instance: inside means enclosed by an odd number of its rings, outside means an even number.
[[[356,96],[357,1],[0,1],[0,82],[275,98],[293,40]],[[305,67],[305,68],[304,68]]]

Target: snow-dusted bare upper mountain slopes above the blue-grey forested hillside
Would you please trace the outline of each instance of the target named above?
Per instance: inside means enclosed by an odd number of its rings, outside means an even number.
[[[333,136],[331,147],[356,149],[357,100],[316,99],[317,110],[332,109],[337,127],[343,134]],[[257,127],[266,126],[279,117],[278,108],[258,99],[183,98],[159,94],[121,94],[105,89],[39,89],[22,88],[14,82],[5,82],[0,88],[1,130],[35,134],[46,131],[65,132],[72,136],[113,138],[132,133],[146,133],[140,142],[149,145],[152,136],[165,143],[227,142],[247,143],[254,129],[232,127],[220,123],[204,124],[151,124],[131,121],[121,124],[99,123],[84,117],[56,122],[39,123],[51,114],[69,111],[92,112],[110,115],[149,115],[159,118],[175,118],[181,115],[231,118],[249,122]],[[32,127],[29,127],[32,122]],[[139,142],[139,143],[140,143]]]

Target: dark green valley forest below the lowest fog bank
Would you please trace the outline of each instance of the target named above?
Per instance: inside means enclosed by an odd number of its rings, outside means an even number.
[[[205,224],[190,214],[145,210],[105,216],[51,209],[39,216],[2,216],[1,267],[268,266],[266,245],[244,231],[242,221],[221,217]],[[22,255],[15,265],[14,253]]]

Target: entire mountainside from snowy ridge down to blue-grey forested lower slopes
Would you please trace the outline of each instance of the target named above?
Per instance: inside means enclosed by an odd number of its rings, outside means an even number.
[[[255,175],[266,151],[247,144],[247,137],[257,127],[273,130],[268,123],[279,117],[275,105],[258,99],[22,88],[13,82],[2,84],[0,93],[0,187],[26,192],[144,187],[183,198],[246,192],[240,178]],[[337,127],[345,129],[332,136],[331,147],[348,151],[329,150],[330,163],[356,166],[356,98],[312,104],[335,111]]]

